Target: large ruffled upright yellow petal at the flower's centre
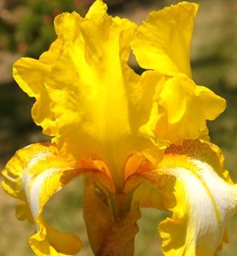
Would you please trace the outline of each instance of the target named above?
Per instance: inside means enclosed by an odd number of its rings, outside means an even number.
[[[55,18],[58,39],[39,61],[21,59],[14,77],[36,97],[33,117],[68,160],[103,160],[117,187],[125,182],[125,161],[134,151],[157,162],[154,94],[163,79],[155,71],[140,77],[128,67],[129,43],[137,26],[106,14],[96,1],[85,18]],[[46,71],[44,70],[46,69]],[[32,77],[29,72],[35,70]],[[49,131],[49,132],[48,132]]]

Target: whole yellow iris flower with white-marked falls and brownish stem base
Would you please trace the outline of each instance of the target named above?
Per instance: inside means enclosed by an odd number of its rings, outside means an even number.
[[[191,79],[198,5],[181,2],[136,24],[96,0],[85,17],[55,18],[58,38],[39,60],[20,58],[14,79],[36,98],[32,116],[52,136],[18,150],[2,188],[21,201],[36,255],[74,255],[82,243],[43,220],[49,198],[85,176],[84,219],[95,255],[131,256],[139,207],[172,212],[160,223],[166,256],[214,256],[227,242],[237,187],[211,144],[207,120],[226,102]],[[130,48],[147,69],[135,74]]]

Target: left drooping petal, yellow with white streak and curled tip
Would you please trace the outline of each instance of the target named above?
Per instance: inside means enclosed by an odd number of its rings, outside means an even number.
[[[45,143],[18,150],[2,172],[2,188],[21,200],[16,207],[17,218],[36,225],[36,234],[29,242],[37,255],[74,255],[81,250],[81,240],[76,235],[59,232],[43,220],[43,207],[53,194],[71,179],[90,172],[97,182],[103,175],[103,186],[110,190],[109,177],[106,178],[103,172],[79,167],[77,169],[59,156],[54,145]]]

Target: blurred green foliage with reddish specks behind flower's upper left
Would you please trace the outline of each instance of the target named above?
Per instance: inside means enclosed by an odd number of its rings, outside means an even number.
[[[12,1],[10,1],[12,2]],[[84,10],[92,1],[78,0],[20,0],[7,5],[8,11],[20,10],[24,7],[24,14],[14,11],[18,15],[18,21],[11,24],[0,19],[0,34],[2,43],[0,49],[11,52],[23,53],[29,57],[39,55],[49,49],[55,40],[53,21],[58,14],[68,11],[84,13]],[[1,47],[2,46],[2,47]]]

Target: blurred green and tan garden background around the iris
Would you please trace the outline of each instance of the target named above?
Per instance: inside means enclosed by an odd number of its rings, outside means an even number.
[[[84,15],[92,0],[0,0],[0,167],[18,148],[49,138],[33,124],[30,109],[33,100],[14,83],[13,62],[21,57],[39,58],[55,40],[54,17],[62,11]],[[141,24],[151,10],[179,1],[169,0],[105,0],[109,13],[128,17]],[[191,49],[194,81],[209,87],[227,100],[227,109],[209,124],[213,143],[226,156],[226,168],[237,181],[237,1],[199,0],[200,11],[195,23]],[[135,64],[134,64],[135,65]],[[134,67],[136,68],[136,67]],[[0,178],[1,179],[1,178]],[[80,235],[84,249],[80,255],[90,256],[81,212],[80,179],[59,192],[46,206],[46,219],[58,229]],[[135,256],[162,255],[157,223],[166,213],[142,210],[140,232],[135,240]],[[229,245],[222,256],[236,256],[237,217],[230,223]],[[34,229],[14,217],[14,200],[0,189],[0,255],[33,255],[27,239]]]

